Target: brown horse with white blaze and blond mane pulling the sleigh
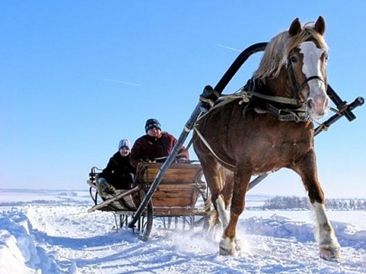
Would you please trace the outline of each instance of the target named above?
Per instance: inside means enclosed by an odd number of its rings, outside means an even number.
[[[308,192],[316,215],[321,258],[339,258],[339,243],[326,215],[318,180],[312,123],[329,108],[324,32],[322,16],[314,25],[303,27],[296,18],[288,31],[276,35],[266,46],[253,78],[261,83],[259,92],[252,89],[256,93],[251,92],[245,104],[239,103],[242,100],[221,102],[222,106],[212,108],[195,125],[194,150],[224,226],[219,244],[222,255],[234,254],[238,248],[236,224],[244,210],[251,176],[285,167],[300,175]],[[294,121],[279,119],[276,113],[283,111]],[[225,208],[230,198],[228,217]]]

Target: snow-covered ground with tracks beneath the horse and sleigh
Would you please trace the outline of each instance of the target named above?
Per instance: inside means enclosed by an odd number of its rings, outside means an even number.
[[[221,231],[167,231],[155,219],[143,242],[130,229],[113,231],[112,213],[87,213],[92,205],[87,191],[0,189],[0,273],[366,273],[366,211],[329,212],[337,263],[319,258],[306,210],[247,210],[242,251],[220,256]]]

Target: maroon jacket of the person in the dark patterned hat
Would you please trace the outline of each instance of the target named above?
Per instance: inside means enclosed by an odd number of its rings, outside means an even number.
[[[160,138],[144,135],[135,141],[130,153],[130,163],[136,168],[139,161],[154,161],[156,158],[167,157],[172,151],[177,139],[167,132],[162,132]],[[188,151],[182,147],[178,154],[188,160]],[[177,157],[178,158],[178,157]],[[165,159],[164,159],[165,160]],[[164,161],[160,160],[160,161]],[[159,161],[159,160],[158,160]]]

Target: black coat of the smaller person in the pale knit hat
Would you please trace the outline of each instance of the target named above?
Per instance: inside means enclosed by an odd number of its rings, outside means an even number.
[[[109,159],[99,178],[104,178],[116,189],[128,189],[128,184],[133,178],[131,173],[135,174],[136,168],[130,164],[130,155],[123,157],[118,151]]]

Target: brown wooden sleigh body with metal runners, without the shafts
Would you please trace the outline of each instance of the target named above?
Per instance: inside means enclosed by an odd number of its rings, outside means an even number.
[[[116,190],[115,194],[98,193],[96,182],[100,173],[93,167],[87,183],[90,185],[94,206],[88,212],[113,212],[116,228],[127,225],[129,217],[135,215],[161,165],[139,163],[135,182],[130,184],[130,189]],[[198,224],[208,222],[209,204],[206,183],[202,181],[201,165],[173,163],[165,172],[134,230],[136,229],[140,239],[147,240],[154,218],[160,218],[165,228],[178,229],[180,225],[181,229],[192,229]]]

